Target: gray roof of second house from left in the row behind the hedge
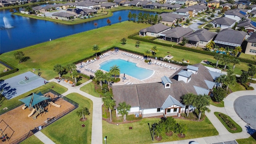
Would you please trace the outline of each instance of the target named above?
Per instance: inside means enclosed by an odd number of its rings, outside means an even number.
[[[162,34],[166,34],[166,37],[170,38],[181,38],[192,31],[191,28],[176,27],[163,32]]]

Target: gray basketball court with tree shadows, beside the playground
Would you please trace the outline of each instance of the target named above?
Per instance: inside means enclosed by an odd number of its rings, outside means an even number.
[[[25,79],[27,78],[27,80]],[[42,85],[44,81],[47,82],[44,78],[34,74],[33,72],[25,72],[18,76],[8,78],[1,81],[1,89],[3,88],[3,95],[8,100],[20,96],[30,90],[34,90]]]

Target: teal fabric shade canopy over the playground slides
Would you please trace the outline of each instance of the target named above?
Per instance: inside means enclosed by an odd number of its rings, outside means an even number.
[[[50,99],[49,97],[44,96],[41,92],[38,94],[33,94],[31,96],[27,96],[26,98],[19,99],[19,101],[24,102],[29,108],[35,106],[39,102]]]

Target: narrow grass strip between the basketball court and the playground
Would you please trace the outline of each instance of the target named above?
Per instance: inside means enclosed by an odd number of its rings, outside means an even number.
[[[52,88],[52,86],[54,86],[54,88]],[[10,100],[7,100],[7,99],[3,99],[3,101],[1,100],[1,102],[0,102],[0,104],[2,105],[1,107],[5,108],[5,107],[12,106],[13,104],[16,104],[16,103],[20,102],[20,101],[18,101],[19,99],[28,96],[32,92],[38,92],[38,90],[43,91],[43,90],[46,90],[48,88],[50,88],[50,89],[52,89],[52,90],[54,90],[54,91],[56,91],[56,92],[58,92],[60,94],[63,94],[64,92],[66,92],[68,90],[67,88],[65,88],[65,87],[63,87],[63,86],[61,86],[59,84],[56,84],[55,82],[49,82],[48,84],[40,86],[40,87],[38,87],[38,88],[36,88],[34,90],[30,90],[29,92],[26,92],[26,93],[24,93],[24,94],[22,94],[20,96],[12,98]],[[0,114],[2,114],[2,112],[3,112],[2,108],[0,109]]]

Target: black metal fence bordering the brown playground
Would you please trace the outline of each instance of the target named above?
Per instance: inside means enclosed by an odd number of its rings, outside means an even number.
[[[46,126],[52,124],[53,122],[55,122],[56,120],[58,120],[59,118],[62,118],[63,116],[65,116],[66,114],[68,114],[69,112],[71,112],[72,110],[78,108],[79,104],[74,102],[73,100],[70,100],[69,98],[66,98],[64,96],[62,96],[61,94],[59,94],[58,92],[55,92],[54,90],[52,89],[47,89],[47,90],[44,90],[42,91],[41,93],[42,94],[46,94],[48,92],[51,92],[53,94],[56,95],[56,98],[54,99],[58,99],[58,98],[62,98],[64,100],[66,100],[67,102],[69,102],[70,104],[73,104],[74,106],[72,106],[71,108],[68,108],[67,110],[65,110],[64,112],[58,114],[57,116],[54,116],[48,120],[46,120],[43,124],[40,124],[40,126],[34,128],[33,130],[30,130],[28,133],[24,134],[23,136],[21,136],[20,138],[14,140],[13,142],[11,142],[10,144],[18,144],[20,142],[22,142],[23,140],[26,140],[26,138],[32,136],[33,134],[35,134],[36,132],[38,132],[39,130],[41,130],[42,128],[45,128]],[[23,103],[22,103],[23,104]],[[20,104],[20,105],[22,105]],[[16,107],[20,106],[18,103],[17,104],[14,104],[16,105]],[[13,105],[13,107],[14,107]],[[13,109],[13,108],[12,108]]]

